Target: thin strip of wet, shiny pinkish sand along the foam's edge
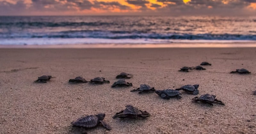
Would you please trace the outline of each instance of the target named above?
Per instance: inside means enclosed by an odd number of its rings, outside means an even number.
[[[256,43],[0,45],[0,48],[255,48]]]

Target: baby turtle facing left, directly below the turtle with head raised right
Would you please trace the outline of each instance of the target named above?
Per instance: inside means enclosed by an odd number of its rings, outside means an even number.
[[[180,91],[173,89],[156,90],[155,93],[163,99],[169,100],[171,97],[176,96],[177,99],[182,98]]]

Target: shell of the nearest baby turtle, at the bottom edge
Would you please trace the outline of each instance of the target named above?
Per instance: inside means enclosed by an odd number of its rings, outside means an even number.
[[[99,119],[97,116],[89,115],[89,116],[85,116],[77,119],[75,122],[72,122],[72,125],[85,127],[85,128],[92,128],[92,127],[96,127],[98,123],[99,123]]]

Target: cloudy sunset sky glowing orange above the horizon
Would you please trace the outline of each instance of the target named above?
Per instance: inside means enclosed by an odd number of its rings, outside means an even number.
[[[0,0],[6,15],[256,16],[256,0]]]

